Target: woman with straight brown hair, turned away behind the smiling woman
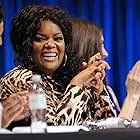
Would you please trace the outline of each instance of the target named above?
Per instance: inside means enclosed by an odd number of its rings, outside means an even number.
[[[80,59],[81,63],[84,62],[83,64],[86,65],[88,61],[90,62],[92,60],[92,56],[98,52],[100,52],[102,59],[108,56],[108,53],[104,48],[104,37],[101,28],[91,22],[74,18],[72,19],[72,29],[72,51],[77,52],[77,57]],[[103,83],[100,78],[97,81],[98,82],[94,84],[96,92],[101,93],[103,86],[105,85],[104,88],[108,90],[108,94],[115,104],[116,113],[118,115],[120,111],[119,103],[113,90],[107,85],[106,78],[103,80]]]

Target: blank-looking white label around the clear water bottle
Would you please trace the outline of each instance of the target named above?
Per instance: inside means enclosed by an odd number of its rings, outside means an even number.
[[[29,95],[29,108],[34,109],[45,109],[47,107],[46,97],[44,94],[30,94]]]

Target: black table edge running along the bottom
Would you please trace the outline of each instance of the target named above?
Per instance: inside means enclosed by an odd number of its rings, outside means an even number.
[[[0,134],[0,140],[140,140],[140,128],[46,134]]]

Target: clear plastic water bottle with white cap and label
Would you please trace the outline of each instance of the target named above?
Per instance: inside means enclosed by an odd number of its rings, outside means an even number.
[[[41,76],[33,75],[32,87],[29,90],[29,109],[31,112],[32,133],[44,133],[46,131],[45,110],[47,103],[40,82]]]

